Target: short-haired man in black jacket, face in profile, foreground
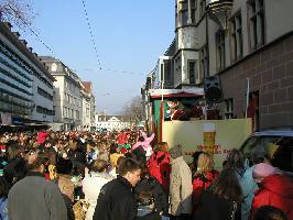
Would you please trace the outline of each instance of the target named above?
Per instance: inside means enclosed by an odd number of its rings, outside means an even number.
[[[133,187],[140,180],[141,166],[126,158],[118,166],[118,177],[106,184],[97,200],[93,220],[134,220],[138,204]]]

